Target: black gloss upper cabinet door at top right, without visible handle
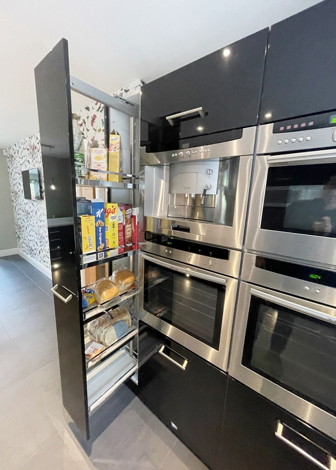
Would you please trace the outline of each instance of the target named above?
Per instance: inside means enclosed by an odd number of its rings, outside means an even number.
[[[273,24],[260,123],[336,108],[336,2],[325,0]]]

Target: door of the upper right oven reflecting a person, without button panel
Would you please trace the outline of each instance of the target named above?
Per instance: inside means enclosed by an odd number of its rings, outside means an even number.
[[[257,156],[247,249],[336,264],[336,151]]]

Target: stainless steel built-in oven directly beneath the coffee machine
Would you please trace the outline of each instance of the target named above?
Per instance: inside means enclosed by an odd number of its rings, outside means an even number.
[[[153,233],[140,243],[139,318],[227,370],[241,253]]]

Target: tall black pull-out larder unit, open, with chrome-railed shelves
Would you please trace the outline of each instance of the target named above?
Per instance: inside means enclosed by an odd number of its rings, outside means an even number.
[[[136,137],[139,135],[139,106],[105,94],[71,77],[68,42],[65,39],[35,68],[35,84],[63,405],[78,430],[88,439],[90,416],[107,399],[112,399],[119,385],[137,371],[138,361],[133,344],[138,343],[138,292],[135,285],[132,290],[103,305],[92,304],[84,308],[82,288],[86,285],[82,282],[83,279],[86,281],[86,269],[94,268],[98,280],[111,274],[121,259],[137,277],[138,251],[137,245],[132,244],[127,246],[127,250],[124,247],[124,253],[120,254],[118,248],[100,251],[98,248],[96,252],[83,255],[79,243],[77,197],[83,196],[79,193],[85,190],[92,192],[91,197],[101,198],[103,202],[137,204],[138,184],[134,181],[139,147],[139,137]],[[114,120],[123,119],[124,127],[128,125],[125,131],[127,140],[124,140],[129,143],[128,148],[124,145],[125,173],[117,173],[118,182],[88,179],[86,169],[76,172],[71,91],[104,105],[102,117],[106,140],[112,110],[115,113]],[[117,193],[121,194],[118,190],[123,193],[121,201],[118,200]],[[120,304],[127,305],[130,311],[133,309],[132,325],[125,335],[117,337],[116,342],[106,346],[94,358],[86,358],[85,351],[92,343],[87,333],[88,322],[99,318],[104,311],[113,312],[112,308]]]

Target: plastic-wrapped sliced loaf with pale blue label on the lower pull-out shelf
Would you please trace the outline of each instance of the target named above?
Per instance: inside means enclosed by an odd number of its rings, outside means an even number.
[[[127,308],[117,307],[90,321],[87,324],[87,332],[92,341],[110,346],[125,336],[131,325],[132,317]]]

